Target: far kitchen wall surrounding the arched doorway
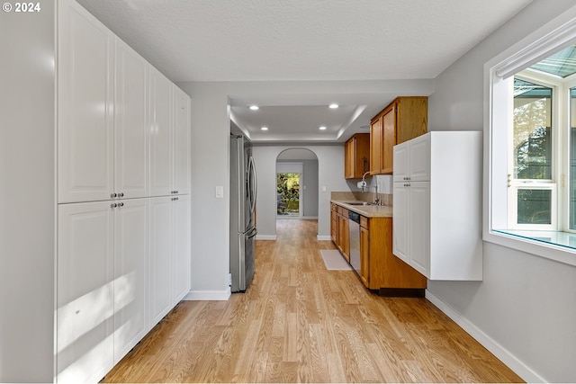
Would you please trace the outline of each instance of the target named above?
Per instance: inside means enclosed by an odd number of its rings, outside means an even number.
[[[318,157],[318,237],[330,236],[330,192],[349,191],[344,179],[344,146],[302,146]],[[290,146],[256,146],[254,160],[258,171],[258,239],[276,237],[276,157]],[[326,187],[326,191],[323,190]]]

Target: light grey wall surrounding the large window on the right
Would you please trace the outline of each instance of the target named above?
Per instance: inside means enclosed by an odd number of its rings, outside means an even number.
[[[430,130],[482,130],[483,65],[572,6],[535,0],[435,80]],[[576,268],[490,243],[480,282],[429,281],[428,290],[529,381],[576,380]]]

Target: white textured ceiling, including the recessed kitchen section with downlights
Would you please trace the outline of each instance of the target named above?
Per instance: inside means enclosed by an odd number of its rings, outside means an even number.
[[[77,1],[180,82],[431,79],[531,0]],[[238,108],[247,103],[234,97]],[[341,141],[365,125],[358,108],[372,113],[383,105],[383,98],[347,101],[333,121],[337,113],[326,108],[325,119],[317,118],[330,97],[291,105],[281,99],[267,100],[284,107],[275,112],[237,108],[238,127],[256,139],[307,141],[320,139],[315,125],[325,120],[326,140]],[[265,113],[277,114],[264,120]],[[293,119],[307,116],[312,129],[302,131],[305,124]],[[270,121],[282,130],[257,132]]]

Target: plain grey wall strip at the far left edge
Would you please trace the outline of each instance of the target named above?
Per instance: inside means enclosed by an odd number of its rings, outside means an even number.
[[[54,2],[0,13],[0,382],[54,374]]]

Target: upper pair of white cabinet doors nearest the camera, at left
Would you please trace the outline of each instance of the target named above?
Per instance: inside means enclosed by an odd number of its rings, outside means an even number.
[[[148,62],[76,2],[59,10],[58,202],[145,197]]]

